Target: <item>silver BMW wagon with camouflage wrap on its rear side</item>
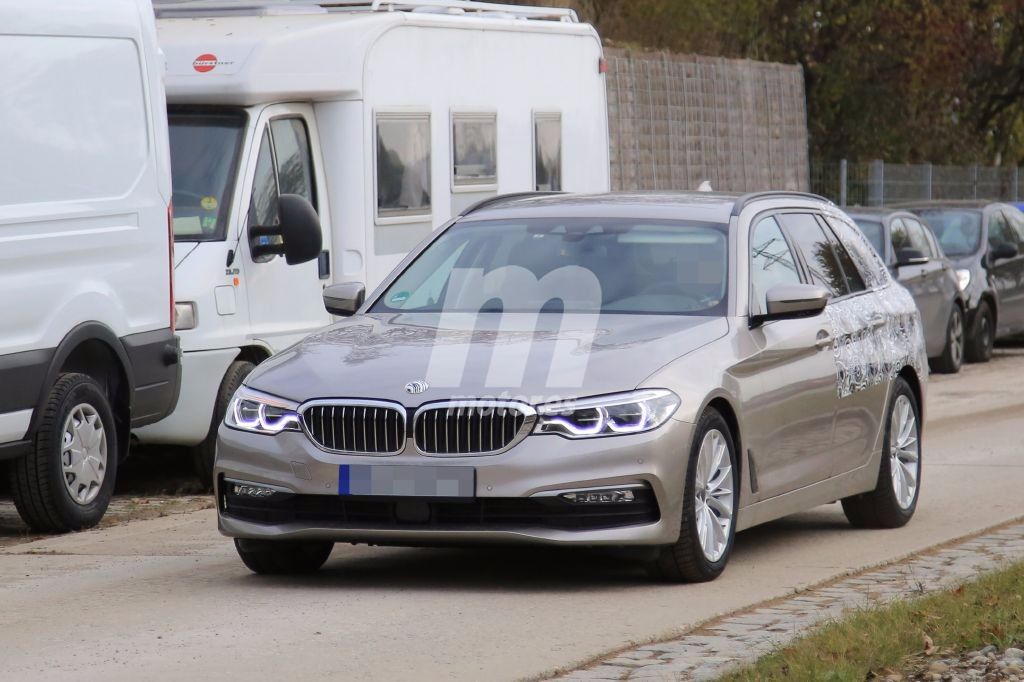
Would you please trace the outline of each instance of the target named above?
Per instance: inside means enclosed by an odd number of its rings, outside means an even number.
[[[737,530],[916,507],[921,318],[818,197],[500,197],[325,303],[345,319],[219,430],[220,530],[256,572],[336,542],[546,543],[707,581]]]

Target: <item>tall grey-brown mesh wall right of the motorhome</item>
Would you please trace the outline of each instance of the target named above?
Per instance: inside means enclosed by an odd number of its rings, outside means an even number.
[[[612,189],[807,189],[800,67],[605,54]]]

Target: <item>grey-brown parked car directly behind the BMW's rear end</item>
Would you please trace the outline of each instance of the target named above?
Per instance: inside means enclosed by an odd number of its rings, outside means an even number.
[[[965,297],[953,264],[935,235],[907,211],[848,211],[886,261],[893,279],[913,296],[925,330],[928,358],[936,372],[959,372],[964,358]]]

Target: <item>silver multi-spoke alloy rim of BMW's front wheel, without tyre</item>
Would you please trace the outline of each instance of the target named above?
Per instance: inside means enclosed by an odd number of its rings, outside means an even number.
[[[697,539],[709,561],[725,554],[732,528],[732,460],[725,436],[711,429],[700,441],[694,476]]]

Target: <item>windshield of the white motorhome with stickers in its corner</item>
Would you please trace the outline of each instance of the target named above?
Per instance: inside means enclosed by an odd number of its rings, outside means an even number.
[[[174,240],[223,240],[246,115],[237,110],[171,110],[168,122]]]

